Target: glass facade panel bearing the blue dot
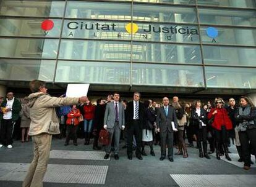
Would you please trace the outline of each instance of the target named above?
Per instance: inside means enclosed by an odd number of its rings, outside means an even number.
[[[201,33],[202,42],[205,44],[256,46],[256,29],[202,26]]]

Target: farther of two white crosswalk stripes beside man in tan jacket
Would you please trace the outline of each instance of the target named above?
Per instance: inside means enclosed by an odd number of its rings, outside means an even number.
[[[104,159],[104,151],[65,151],[65,150],[52,150],[50,152],[51,159],[82,159],[82,160],[98,160],[109,161]]]

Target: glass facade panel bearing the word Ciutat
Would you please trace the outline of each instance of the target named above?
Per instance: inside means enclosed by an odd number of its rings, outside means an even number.
[[[65,20],[63,38],[130,39],[126,31],[128,22],[95,20]]]

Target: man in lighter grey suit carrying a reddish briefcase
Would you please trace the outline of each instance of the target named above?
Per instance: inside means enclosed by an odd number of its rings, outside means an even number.
[[[119,140],[121,129],[124,129],[124,105],[119,102],[120,95],[114,93],[114,101],[106,105],[106,111],[104,116],[104,128],[109,132],[109,145],[106,146],[106,155],[104,159],[109,158],[111,151],[111,143],[114,135],[114,159],[118,160],[119,156]]]

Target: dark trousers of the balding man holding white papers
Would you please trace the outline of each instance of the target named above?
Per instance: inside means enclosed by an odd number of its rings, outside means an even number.
[[[168,145],[168,157],[173,158],[173,132],[166,132],[160,131],[160,138],[161,138],[161,156],[166,156],[166,141]]]

